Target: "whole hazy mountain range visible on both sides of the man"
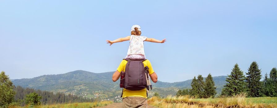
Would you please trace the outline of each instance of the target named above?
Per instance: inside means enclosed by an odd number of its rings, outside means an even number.
[[[42,75],[29,79],[14,79],[12,82],[15,86],[20,85],[22,87],[71,94],[88,93],[88,97],[95,97],[96,94],[102,94],[103,98],[109,98],[120,95],[122,90],[119,88],[119,80],[116,82],[112,81],[111,77],[113,73],[92,73],[76,70],[58,75]],[[225,85],[226,77],[213,77],[218,93],[221,92],[223,85]],[[167,94],[175,95],[178,89],[190,88],[191,81],[187,80],[174,83],[158,81],[157,83],[152,82],[151,84],[153,84],[153,88],[156,88],[156,90],[153,89],[154,91],[160,93],[161,96],[166,96]]]

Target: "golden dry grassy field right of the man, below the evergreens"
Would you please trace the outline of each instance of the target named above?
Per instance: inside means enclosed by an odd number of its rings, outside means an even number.
[[[230,98],[194,99],[189,96],[148,99],[148,104],[159,108],[277,108],[277,97],[245,98],[237,95]]]

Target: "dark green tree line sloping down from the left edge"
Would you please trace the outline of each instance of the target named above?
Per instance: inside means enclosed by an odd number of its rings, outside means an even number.
[[[39,100],[39,102],[35,102]],[[5,72],[0,73],[0,108],[7,108],[9,105],[24,106],[29,103],[34,104],[56,104],[72,102],[93,102],[93,99],[83,98],[72,94],[61,92],[53,93],[39,89],[23,88],[12,85],[11,80]]]

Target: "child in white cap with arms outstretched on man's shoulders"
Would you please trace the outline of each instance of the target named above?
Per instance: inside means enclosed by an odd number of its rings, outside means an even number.
[[[132,60],[145,59],[144,46],[143,46],[144,41],[155,42],[155,43],[164,43],[166,41],[166,39],[157,40],[154,38],[147,38],[145,36],[141,36],[141,27],[139,25],[133,25],[131,28],[131,36],[115,39],[113,41],[106,40],[106,42],[112,45],[113,43],[123,42],[127,40],[130,40],[130,45],[129,45],[126,58],[132,59]]]

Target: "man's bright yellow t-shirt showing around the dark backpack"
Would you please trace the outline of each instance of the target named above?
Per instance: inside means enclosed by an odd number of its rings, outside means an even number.
[[[121,63],[119,64],[117,71],[120,73],[121,71],[125,71],[125,66],[127,64],[127,60],[122,60]],[[151,75],[152,73],[154,73],[154,70],[152,68],[152,65],[150,63],[149,60],[145,60],[142,62],[144,64],[144,67],[147,66],[149,68],[149,75]],[[146,95],[146,88],[145,89],[141,89],[141,90],[128,90],[123,88],[123,95],[122,98],[126,98],[126,97],[142,97],[142,98],[147,98]]]

